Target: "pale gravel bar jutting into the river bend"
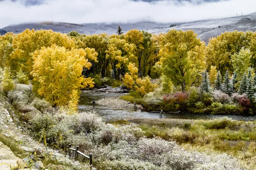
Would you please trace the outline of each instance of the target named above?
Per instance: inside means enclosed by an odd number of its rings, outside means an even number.
[[[123,108],[123,109],[134,109],[134,104],[127,102],[117,97],[106,97],[96,100],[96,104],[100,106],[106,106],[109,108]],[[136,105],[137,109],[140,109],[141,105]]]

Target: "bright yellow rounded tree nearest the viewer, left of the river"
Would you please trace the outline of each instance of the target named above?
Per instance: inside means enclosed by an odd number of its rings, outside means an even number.
[[[75,108],[79,102],[79,89],[93,88],[93,79],[81,75],[83,68],[90,68],[84,49],[67,50],[52,45],[33,53],[34,81],[39,82],[38,94],[55,106]]]

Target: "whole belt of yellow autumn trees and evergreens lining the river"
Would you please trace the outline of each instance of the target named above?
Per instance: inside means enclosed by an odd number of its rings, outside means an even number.
[[[256,33],[251,31],[225,32],[205,45],[191,30],[85,35],[26,29],[0,37],[1,88],[7,93],[14,88],[12,79],[31,80],[35,94],[76,110],[80,89],[119,80],[140,96],[159,92],[162,102],[173,105],[171,110],[179,109],[180,99],[174,96],[181,95],[186,107],[197,110],[218,102],[253,113],[255,54]],[[198,97],[191,104],[195,88]],[[229,102],[215,100],[216,93]]]

